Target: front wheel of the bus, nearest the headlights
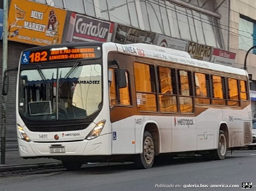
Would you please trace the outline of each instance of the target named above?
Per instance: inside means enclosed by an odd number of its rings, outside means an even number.
[[[143,135],[143,152],[134,158],[136,169],[149,169],[155,160],[155,144],[150,132],[145,131]]]

